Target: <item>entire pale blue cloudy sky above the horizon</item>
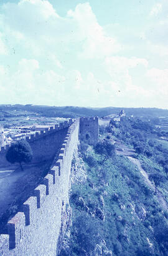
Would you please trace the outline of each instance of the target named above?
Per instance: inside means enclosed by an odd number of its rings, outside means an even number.
[[[167,0],[0,4],[1,104],[168,109]]]

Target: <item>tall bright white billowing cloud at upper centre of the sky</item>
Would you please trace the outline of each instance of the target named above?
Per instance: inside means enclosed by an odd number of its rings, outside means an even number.
[[[68,11],[78,26],[78,38],[83,40],[83,51],[80,57],[84,59],[99,59],[121,49],[113,37],[106,36],[103,27],[98,24],[90,4],[78,4],[75,11]]]

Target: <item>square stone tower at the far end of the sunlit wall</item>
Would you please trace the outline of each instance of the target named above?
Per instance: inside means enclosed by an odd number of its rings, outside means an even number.
[[[98,142],[98,117],[81,117],[79,139],[95,145]]]

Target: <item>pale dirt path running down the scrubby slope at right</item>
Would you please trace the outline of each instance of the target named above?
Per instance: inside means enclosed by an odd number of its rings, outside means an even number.
[[[152,184],[151,180],[149,180],[147,172],[144,169],[142,169],[141,162],[139,161],[139,159],[134,158],[134,155],[136,155],[136,154],[133,149],[129,149],[129,147],[126,147],[126,145],[123,145],[123,144],[121,144],[121,142],[116,140],[116,154],[124,155],[124,156],[128,157],[128,159],[138,167],[139,171],[141,172],[141,174],[144,177],[146,184],[149,185],[149,187],[152,189],[152,191],[155,192],[155,186],[154,186],[154,184]],[[163,209],[168,211],[167,202],[164,198],[164,195],[162,195],[162,193],[161,193],[161,191],[159,191],[159,189],[157,189],[156,197],[157,197],[159,203],[162,205]]]

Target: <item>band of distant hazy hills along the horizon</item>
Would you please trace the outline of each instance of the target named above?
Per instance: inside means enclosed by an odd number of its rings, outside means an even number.
[[[4,115],[16,115],[26,114],[25,111],[38,113],[46,117],[82,117],[82,116],[108,116],[110,114],[118,114],[121,109],[124,109],[126,115],[136,117],[161,117],[168,116],[167,109],[156,108],[126,108],[126,107],[74,107],[74,106],[39,106],[39,105],[0,105],[0,117]],[[15,111],[15,113],[14,113]],[[19,112],[19,113],[18,113]]]

